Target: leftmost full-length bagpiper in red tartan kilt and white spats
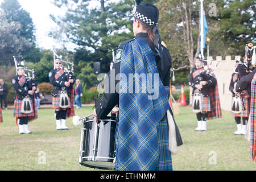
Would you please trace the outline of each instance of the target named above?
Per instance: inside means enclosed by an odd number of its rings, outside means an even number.
[[[19,134],[31,134],[28,130],[28,121],[38,118],[34,97],[36,87],[31,86],[30,81],[24,76],[24,66],[18,65],[17,75],[13,77],[12,83],[15,90],[14,117],[19,126]],[[30,104],[22,104],[25,98],[28,98]],[[24,113],[24,111],[30,111],[30,113]]]

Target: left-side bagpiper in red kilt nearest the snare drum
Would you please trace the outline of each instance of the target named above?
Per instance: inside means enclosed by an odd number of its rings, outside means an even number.
[[[73,83],[75,77],[64,71],[62,60],[54,60],[54,69],[49,72],[53,85],[52,108],[55,109],[56,130],[68,130],[66,119],[75,115],[73,106]]]

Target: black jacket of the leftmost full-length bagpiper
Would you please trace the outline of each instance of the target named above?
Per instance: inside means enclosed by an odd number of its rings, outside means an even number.
[[[13,87],[15,90],[15,98],[18,100],[22,100],[24,97],[28,96],[28,90],[32,90],[32,83],[31,83],[32,80],[28,80],[26,78],[26,82],[22,86],[20,86],[19,85],[20,77],[21,77],[20,75],[16,75],[13,77],[13,80],[12,80]]]

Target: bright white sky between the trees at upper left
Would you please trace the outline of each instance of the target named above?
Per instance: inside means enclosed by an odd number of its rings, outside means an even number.
[[[38,47],[45,49],[61,48],[62,43],[56,42],[56,40],[48,37],[48,32],[54,30],[56,24],[49,18],[50,14],[55,16],[64,15],[65,10],[58,8],[51,2],[53,0],[18,0],[22,8],[28,13],[34,22],[36,28],[36,43]],[[3,0],[0,0],[2,3]],[[92,6],[97,5],[98,2],[92,1]],[[67,46],[67,44],[65,44]],[[68,49],[72,49],[72,44],[68,45]]]

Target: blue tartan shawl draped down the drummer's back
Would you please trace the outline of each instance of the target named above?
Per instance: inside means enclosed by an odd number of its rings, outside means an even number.
[[[156,126],[169,107],[168,95],[158,76],[150,47],[142,39],[127,43],[120,65],[115,170],[156,169],[159,160]]]

